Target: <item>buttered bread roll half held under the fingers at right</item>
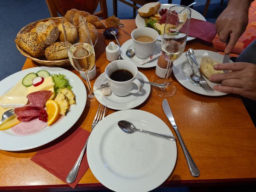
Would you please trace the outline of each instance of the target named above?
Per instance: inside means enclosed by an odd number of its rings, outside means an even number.
[[[217,73],[224,73],[223,70],[217,71],[213,69],[213,66],[215,64],[220,63],[219,61],[216,61],[210,57],[203,57],[200,65],[201,72],[204,74],[204,76],[209,79],[210,76]]]

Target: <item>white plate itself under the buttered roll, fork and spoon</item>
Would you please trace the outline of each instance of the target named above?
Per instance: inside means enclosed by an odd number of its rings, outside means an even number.
[[[215,59],[216,61],[219,61],[222,63],[224,55],[219,54],[218,52],[213,52],[213,51],[207,51],[207,50],[194,50],[195,52],[195,58],[196,61],[198,62],[198,65],[200,66],[201,60],[203,57],[210,57]],[[192,61],[192,59],[191,59]],[[233,61],[230,60],[230,63]],[[193,68],[195,70],[195,73],[200,76],[198,69],[194,62],[192,61]],[[190,78],[190,75],[192,74],[192,69],[189,65],[189,61],[186,58],[185,52],[182,53],[180,58],[178,58],[176,61],[174,61],[174,67],[173,67],[173,74],[175,75],[176,79],[182,84],[184,87],[187,89],[199,93],[201,95],[206,95],[206,96],[223,96],[227,95],[227,93],[222,93],[218,91],[214,91],[214,93],[208,93],[206,90],[204,90],[198,83],[195,83],[192,81]],[[213,87],[214,85],[218,85],[218,83],[214,83],[209,81],[204,76],[204,79],[206,79],[207,83],[209,84],[210,87]]]

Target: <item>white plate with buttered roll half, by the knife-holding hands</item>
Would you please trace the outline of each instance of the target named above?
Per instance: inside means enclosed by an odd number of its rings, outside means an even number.
[[[201,72],[203,73],[204,79],[206,79],[207,83],[210,87],[213,88],[215,85],[220,85],[220,83],[215,83],[209,80],[209,77],[216,73],[224,73],[222,70],[217,71],[213,69],[213,66],[218,63],[222,63],[224,55],[219,54],[218,52],[207,51],[207,50],[194,50],[195,52],[195,59],[200,65]],[[192,61],[192,60],[191,60]],[[230,60],[230,63],[233,61]],[[198,68],[196,67],[195,63],[192,62],[195,74],[200,76],[198,72]],[[186,58],[185,52],[174,61],[173,67],[173,74],[175,75],[176,79],[187,89],[206,96],[223,96],[227,95],[227,93],[222,93],[218,91],[214,91],[214,93],[209,93],[204,90],[198,83],[195,83],[190,78],[192,74],[192,69],[189,65],[189,61]]]

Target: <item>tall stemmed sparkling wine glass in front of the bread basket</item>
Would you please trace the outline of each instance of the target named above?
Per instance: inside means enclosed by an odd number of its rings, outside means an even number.
[[[81,15],[64,17],[62,27],[70,63],[77,71],[85,73],[89,90],[86,105],[98,105],[88,78],[88,71],[95,65],[95,52],[86,19]]]

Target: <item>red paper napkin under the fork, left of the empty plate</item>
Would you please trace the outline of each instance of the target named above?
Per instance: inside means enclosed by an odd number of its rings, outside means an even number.
[[[67,174],[73,168],[90,132],[79,127],[64,140],[52,145],[49,148],[38,151],[31,160],[62,181],[66,182]],[[81,161],[79,172],[73,183],[67,183],[75,188],[79,180],[89,168],[86,153]]]

